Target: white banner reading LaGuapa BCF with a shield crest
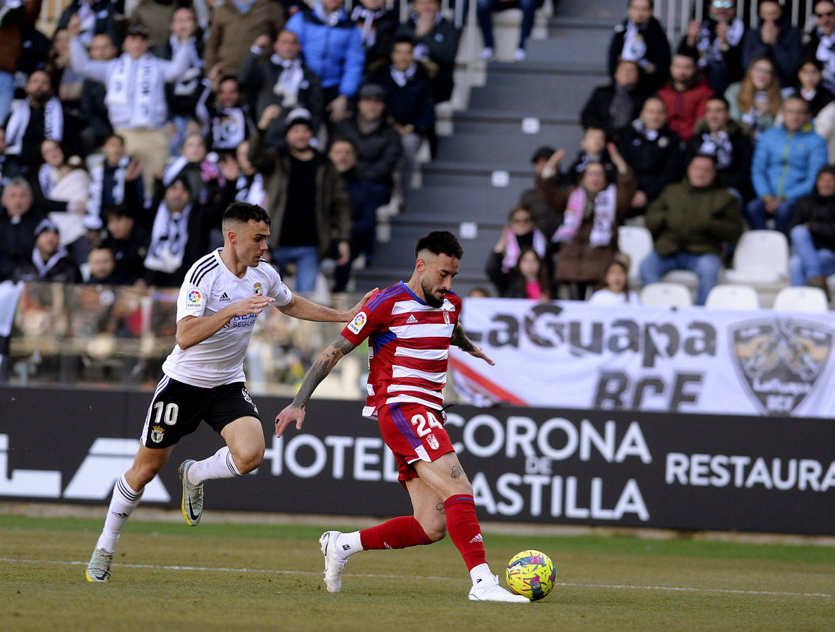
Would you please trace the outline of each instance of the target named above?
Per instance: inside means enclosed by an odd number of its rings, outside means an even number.
[[[833,417],[829,314],[467,299],[464,328],[495,362],[453,347],[478,405]]]

